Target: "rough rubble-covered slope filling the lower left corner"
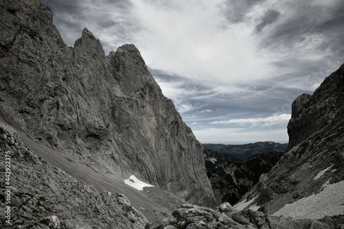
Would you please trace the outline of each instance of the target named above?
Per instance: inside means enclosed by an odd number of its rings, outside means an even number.
[[[0,155],[10,169],[1,179],[1,212],[10,206],[0,228],[144,228],[148,222],[120,193],[98,193],[41,160],[19,140],[14,129],[0,122]],[[0,164],[5,173],[5,163]],[[10,186],[10,187],[8,187]],[[6,198],[5,198],[6,196]]]

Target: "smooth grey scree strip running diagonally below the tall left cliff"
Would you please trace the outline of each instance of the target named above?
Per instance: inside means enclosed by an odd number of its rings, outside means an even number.
[[[101,193],[104,190],[108,190],[111,193],[125,193],[131,204],[133,204],[136,209],[140,210],[140,212],[142,212],[149,221],[164,217],[174,209],[165,208],[160,205],[158,201],[155,201],[143,192],[128,186],[122,180],[119,180],[118,177],[114,177],[111,173],[99,172],[94,168],[93,164],[84,164],[83,162],[69,160],[59,151],[51,149],[43,144],[39,144],[39,142],[35,142],[22,131],[17,130],[17,133],[19,133],[19,138],[25,146],[32,149],[32,151],[34,151],[37,156],[41,157],[42,160],[52,166],[56,166],[56,168],[61,168],[61,170],[72,175],[72,177],[79,181],[94,186],[98,192]],[[159,193],[161,196],[167,192],[160,191]],[[168,198],[164,197],[163,199]]]

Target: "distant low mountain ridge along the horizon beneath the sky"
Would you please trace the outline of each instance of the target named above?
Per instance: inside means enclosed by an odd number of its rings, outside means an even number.
[[[288,143],[278,142],[255,142],[249,144],[202,144],[204,149],[218,151],[219,153],[228,153],[240,160],[245,160],[259,153],[284,152]]]

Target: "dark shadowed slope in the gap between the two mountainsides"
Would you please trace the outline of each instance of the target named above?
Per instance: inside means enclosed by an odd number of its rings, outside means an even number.
[[[283,153],[261,153],[241,162],[224,162],[208,169],[208,175],[213,186],[217,205],[229,202],[234,205],[237,201],[259,182],[263,173],[268,173]]]

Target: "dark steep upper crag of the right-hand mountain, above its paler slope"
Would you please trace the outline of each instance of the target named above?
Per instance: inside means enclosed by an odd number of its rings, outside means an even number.
[[[343,116],[343,65],[325,78],[312,96],[303,94],[292,103],[288,123],[288,150],[324,127],[341,124]]]

